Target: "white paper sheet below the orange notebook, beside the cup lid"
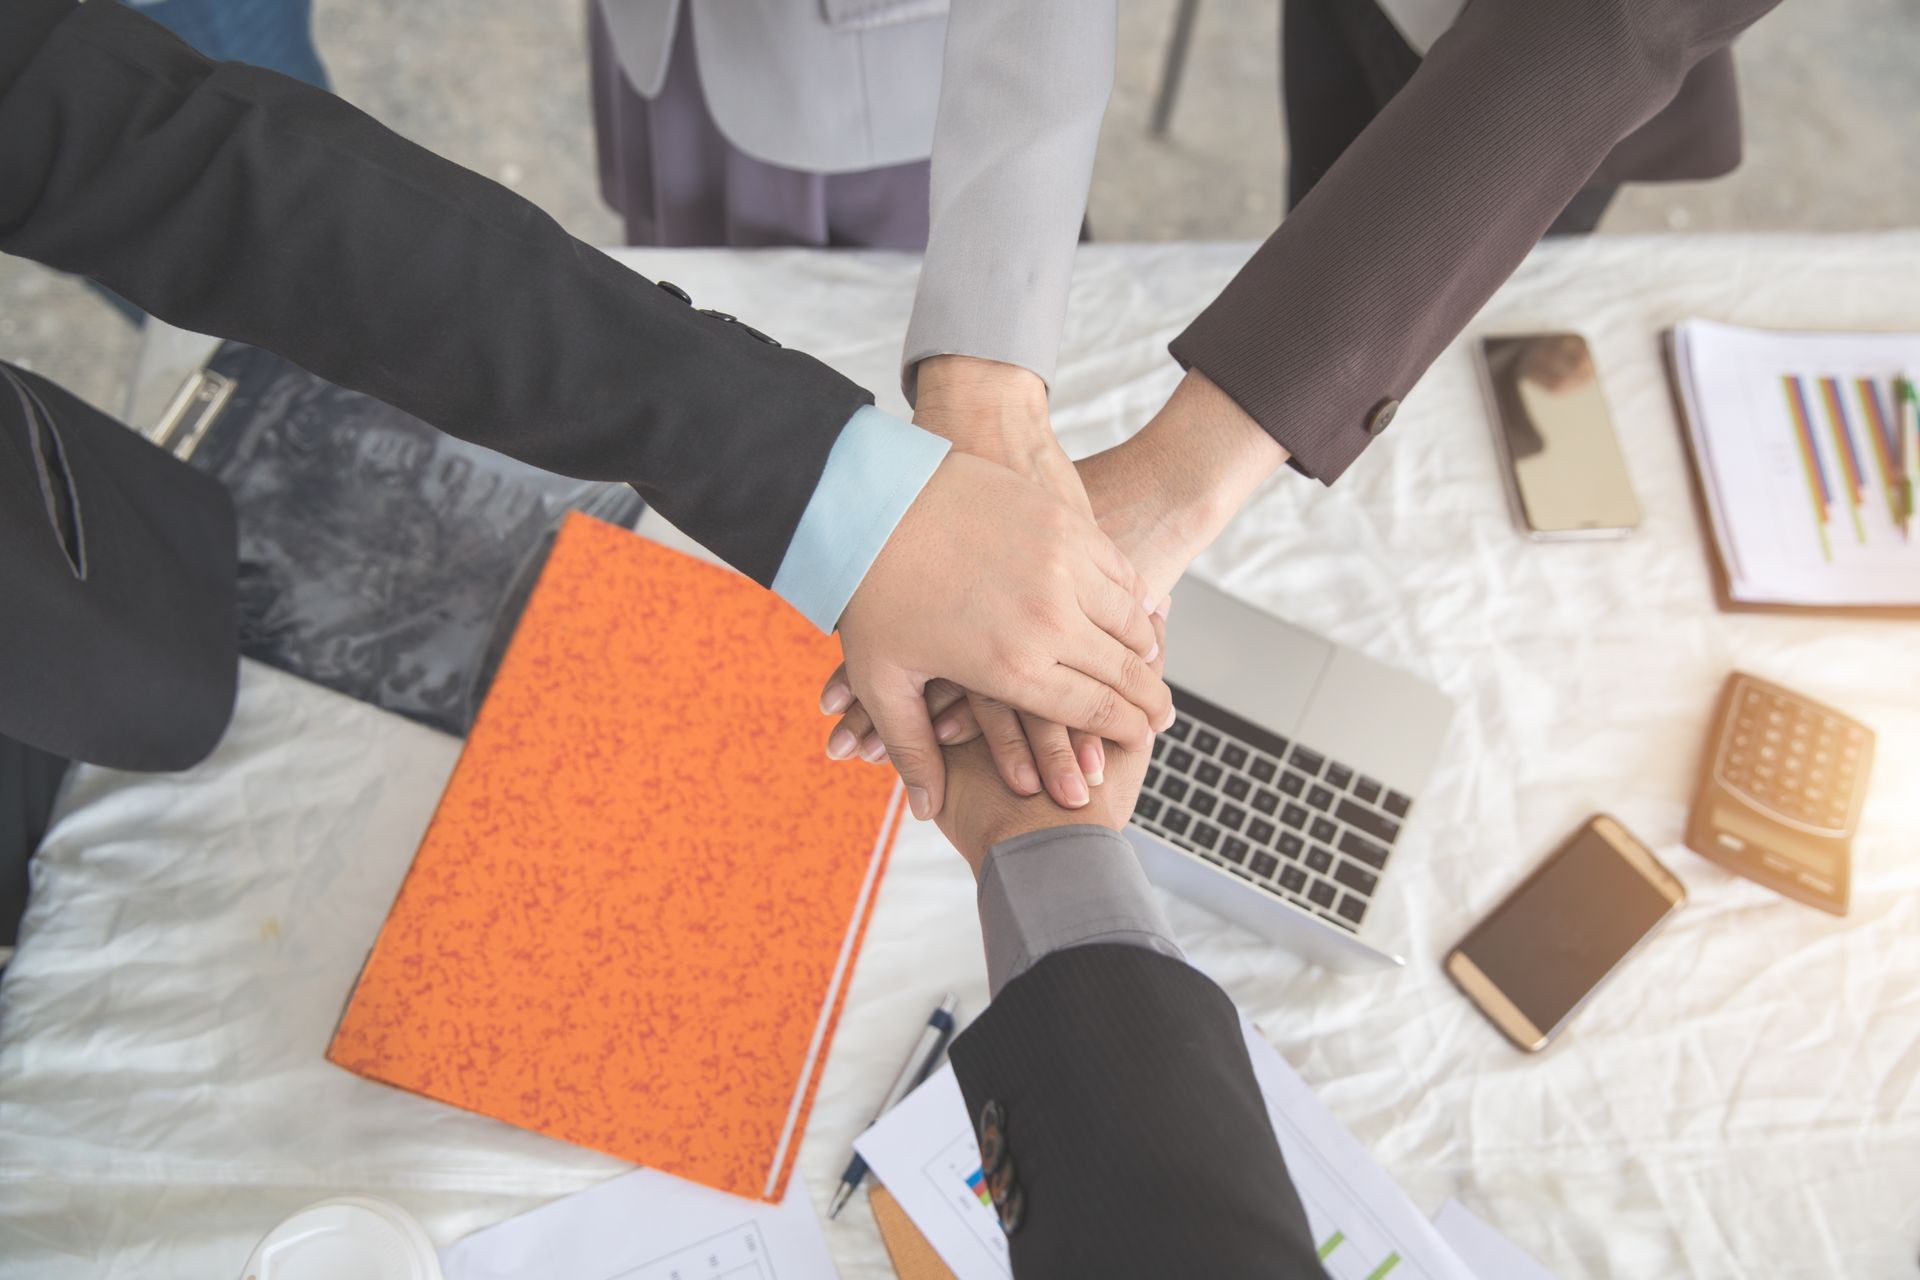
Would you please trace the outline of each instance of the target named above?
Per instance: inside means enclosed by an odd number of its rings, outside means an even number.
[[[837,1280],[795,1180],[766,1205],[637,1169],[442,1249],[447,1280]]]

